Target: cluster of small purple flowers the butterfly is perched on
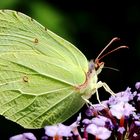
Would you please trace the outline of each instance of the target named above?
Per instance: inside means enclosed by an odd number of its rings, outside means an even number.
[[[102,104],[88,107],[86,117],[78,116],[69,125],[46,126],[41,140],[138,140],[140,139],[140,82],[111,96]],[[10,140],[36,140],[32,133],[13,136]]]

